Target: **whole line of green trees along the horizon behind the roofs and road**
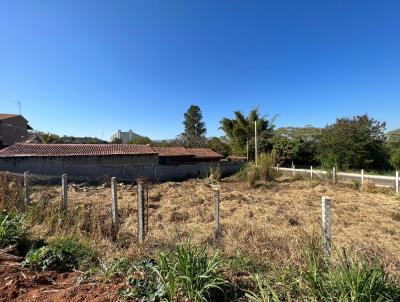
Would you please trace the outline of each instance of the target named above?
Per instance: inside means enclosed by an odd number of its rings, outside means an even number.
[[[280,165],[321,166],[341,170],[400,169],[400,129],[385,132],[386,123],[368,115],[337,118],[323,128],[275,128],[277,116],[268,119],[258,109],[247,115],[235,111],[232,118],[222,118],[221,137],[207,137],[203,114],[197,105],[191,105],[183,116],[184,131],[173,140],[155,142],[146,136],[136,136],[130,144],[152,146],[183,146],[210,148],[224,156],[234,155],[254,159],[255,127],[259,153],[274,150]],[[256,122],[256,123],[255,123]],[[41,143],[107,143],[97,138],[60,137],[42,134]],[[115,140],[112,143],[122,143]]]

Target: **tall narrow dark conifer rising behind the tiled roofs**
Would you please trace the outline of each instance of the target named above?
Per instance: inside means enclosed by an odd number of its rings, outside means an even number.
[[[185,131],[182,133],[182,139],[186,147],[196,148],[206,145],[206,127],[202,121],[203,115],[200,107],[191,105],[184,114],[183,124]]]

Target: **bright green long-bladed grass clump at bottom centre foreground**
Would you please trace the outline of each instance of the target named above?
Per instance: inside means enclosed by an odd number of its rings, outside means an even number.
[[[218,272],[221,264],[218,253],[207,255],[205,246],[194,246],[187,241],[174,253],[161,253],[155,268],[164,285],[168,301],[174,301],[179,289],[189,301],[207,301],[213,291],[222,291],[227,282]]]

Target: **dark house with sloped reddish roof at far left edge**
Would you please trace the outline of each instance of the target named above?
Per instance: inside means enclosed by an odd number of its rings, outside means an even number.
[[[0,113],[0,148],[22,142],[32,130],[22,115]]]

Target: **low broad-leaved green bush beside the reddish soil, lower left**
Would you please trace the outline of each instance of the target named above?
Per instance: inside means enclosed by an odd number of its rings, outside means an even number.
[[[61,237],[48,246],[32,249],[23,266],[37,270],[70,271],[87,268],[96,263],[96,252],[85,242],[72,236]]]

